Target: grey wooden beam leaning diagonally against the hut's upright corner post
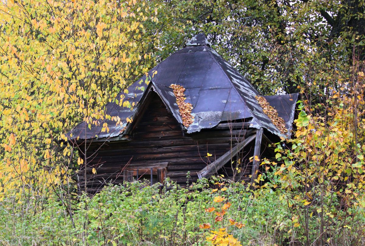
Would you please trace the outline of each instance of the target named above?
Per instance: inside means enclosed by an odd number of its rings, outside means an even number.
[[[229,160],[231,160],[232,156],[236,155],[239,151],[241,151],[255,137],[256,137],[256,134],[245,138],[243,141],[241,141],[239,144],[237,144],[231,150],[229,150],[228,152],[223,154],[220,158],[216,159],[214,162],[212,162],[211,164],[209,164],[208,166],[204,167],[199,172],[197,172],[198,177],[200,179],[201,178],[210,178],[216,171],[221,169],[224,166],[224,164],[226,164]]]

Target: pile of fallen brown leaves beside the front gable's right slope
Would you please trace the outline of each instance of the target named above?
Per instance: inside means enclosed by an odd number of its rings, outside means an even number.
[[[194,117],[191,115],[191,110],[193,109],[193,106],[191,105],[191,103],[185,102],[185,88],[177,84],[171,84],[170,88],[172,88],[176,97],[176,103],[179,107],[179,112],[181,119],[183,120],[183,125],[185,126],[185,128],[188,128],[189,125],[194,122]]]

